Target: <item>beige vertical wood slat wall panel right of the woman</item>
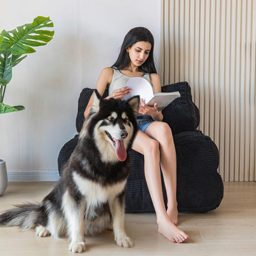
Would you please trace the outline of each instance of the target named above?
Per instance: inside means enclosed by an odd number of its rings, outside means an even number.
[[[256,0],[162,0],[162,84],[188,81],[225,181],[256,179]]]

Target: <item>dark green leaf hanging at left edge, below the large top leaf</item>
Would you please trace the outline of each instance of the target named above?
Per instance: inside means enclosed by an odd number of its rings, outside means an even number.
[[[12,53],[0,51],[0,83],[5,86],[12,79]]]

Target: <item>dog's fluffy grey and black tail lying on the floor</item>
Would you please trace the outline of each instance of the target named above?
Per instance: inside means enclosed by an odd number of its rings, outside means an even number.
[[[41,204],[22,204],[15,207],[0,215],[0,226],[33,228],[42,216]]]

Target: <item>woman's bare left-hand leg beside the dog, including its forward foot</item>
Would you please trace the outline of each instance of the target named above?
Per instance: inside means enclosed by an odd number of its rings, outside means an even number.
[[[158,232],[173,243],[182,243],[188,239],[188,235],[170,221],[164,206],[158,141],[149,138],[144,132],[138,131],[132,149],[144,155],[145,178],[156,211]]]

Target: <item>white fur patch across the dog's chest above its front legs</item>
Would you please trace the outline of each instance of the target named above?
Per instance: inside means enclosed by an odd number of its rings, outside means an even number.
[[[85,197],[87,207],[111,202],[124,191],[126,179],[116,182],[113,185],[102,186],[97,182],[85,179],[78,173],[73,173],[74,182],[76,182],[79,192]]]

